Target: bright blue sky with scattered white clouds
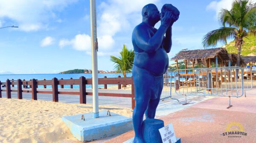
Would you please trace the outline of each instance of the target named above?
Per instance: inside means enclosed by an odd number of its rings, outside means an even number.
[[[256,0],[253,0],[256,1]],[[133,49],[131,34],[142,22],[141,9],[171,3],[180,11],[172,26],[169,58],[182,49],[203,49],[202,38],[221,27],[218,12],[233,0],[96,0],[98,70],[111,71],[110,56],[123,45]],[[92,69],[90,0],[0,0],[0,73],[59,73]],[[160,22],[155,27],[159,28]],[[218,46],[221,46],[220,44]],[[217,47],[218,47],[217,46]]]

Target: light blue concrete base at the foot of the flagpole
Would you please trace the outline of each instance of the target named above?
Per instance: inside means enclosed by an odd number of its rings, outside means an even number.
[[[84,115],[84,120],[82,118]],[[100,111],[99,118],[93,118],[93,113],[65,116],[61,118],[67,124],[70,132],[78,140],[87,142],[102,137],[121,134],[133,129],[132,119],[107,111]]]

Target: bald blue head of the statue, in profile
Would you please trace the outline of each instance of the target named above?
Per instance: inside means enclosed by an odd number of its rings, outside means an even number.
[[[158,11],[157,6],[150,3],[142,8],[143,20],[148,20],[154,23],[160,21],[160,11]]]

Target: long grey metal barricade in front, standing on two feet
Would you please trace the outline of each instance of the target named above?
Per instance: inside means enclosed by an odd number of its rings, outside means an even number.
[[[185,95],[185,104],[188,104],[187,95],[241,97],[244,94],[243,72],[241,67],[175,70],[175,93]]]

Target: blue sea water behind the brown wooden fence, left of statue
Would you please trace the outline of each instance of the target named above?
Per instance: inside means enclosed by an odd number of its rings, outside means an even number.
[[[57,79],[79,79],[81,76],[84,76],[86,79],[91,79],[92,74],[91,73],[77,73],[77,74],[11,74],[11,75],[0,75],[0,81],[6,82],[6,79],[25,79],[26,81],[29,81],[30,79],[38,79],[38,80],[51,80],[52,78]],[[108,78],[115,78],[117,76],[123,77],[122,73],[98,73],[98,78],[104,78],[104,76],[107,76]],[[131,77],[131,73],[126,73],[127,77]],[[109,85],[108,86],[116,86],[116,85]],[[104,87],[104,85],[99,85],[99,87]],[[38,88],[43,88],[43,86],[38,86]],[[47,85],[47,88],[52,88],[51,85]],[[60,88],[60,86],[59,86]],[[64,88],[70,88],[70,85],[64,85]],[[79,85],[73,85],[73,88],[79,88]],[[91,85],[86,85],[86,88],[92,88]]]

